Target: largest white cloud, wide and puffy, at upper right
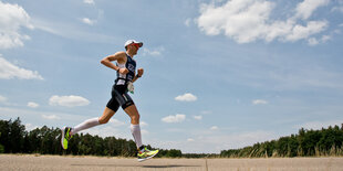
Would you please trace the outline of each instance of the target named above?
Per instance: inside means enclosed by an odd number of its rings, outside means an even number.
[[[326,4],[328,0],[315,0],[310,3],[305,0],[298,4],[295,14],[284,21],[270,19],[274,2],[268,0],[230,0],[222,6],[214,3],[201,4],[200,17],[197,19],[198,28],[208,35],[218,35],[221,32],[238,43],[249,43],[256,40],[266,42],[278,39],[284,42],[294,42],[323,32],[329,23],[326,21],[301,21],[309,19],[313,11]]]

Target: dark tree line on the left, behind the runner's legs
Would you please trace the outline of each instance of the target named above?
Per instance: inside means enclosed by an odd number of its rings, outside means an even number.
[[[148,149],[156,149],[147,146]],[[181,151],[165,150],[156,156],[179,158]],[[137,148],[133,140],[115,137],[77,133],[69,142],[67,150],[61,147],[61,129],[43,126],[27,131],[20,118],[0,120],[0,153],[41,153],[41,154],[75,154],[75,156],[110,156],[136,157]]]

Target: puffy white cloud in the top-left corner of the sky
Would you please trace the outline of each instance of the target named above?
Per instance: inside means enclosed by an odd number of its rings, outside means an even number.
[[[27,11],[18,4],[0,1],[0,49],[23,46],[23,40],[30,36],[19,32],[22,26],[33,29]]]

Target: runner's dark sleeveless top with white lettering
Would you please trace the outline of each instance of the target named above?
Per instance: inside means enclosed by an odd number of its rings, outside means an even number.
[[[119,68],[126,67],[128,70],[127,74],[116,73],[117,78],[115,79],[115,85],[127,85],[128,82],[132,82],[135,77],[136,71],[136,61],[134,61],[129,55],[126,54],[126,63],[125,64],[116,64]]]

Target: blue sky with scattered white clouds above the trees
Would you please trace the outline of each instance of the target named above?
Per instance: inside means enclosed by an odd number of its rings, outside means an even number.
[[[220,152],[343,122],[342,0],[0,1],[0,119],[28,130],[102,115],[143,41],[132,95],[143,142]],[[84,132],[132,139],[119,109]]]

